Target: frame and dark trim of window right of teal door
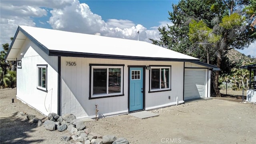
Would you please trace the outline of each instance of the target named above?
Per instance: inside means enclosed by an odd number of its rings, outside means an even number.
[[[162,76],[161,76],[161,74],[162,74],[162,69],[164,69],[164,68],[168,68],[169,69],[169,88],[161,88],[161,78],[162,78]],[[151,75],[152,75],[152,69],[160,69],[160,82],[159,82],[159,88],[157,88],[157,89],[152,89],[151,88]],[[171,88],[171,86],[172,86],[172,84],[171,84],[171,80],[172,80],[172,78],[171,78],[171,76],[172,76],[172,66],[150,66],[150,74],[149,74],[149,93],[150,92],[163,92],[163,91],[170,91],[170,90],[172,90],[172,88]]]

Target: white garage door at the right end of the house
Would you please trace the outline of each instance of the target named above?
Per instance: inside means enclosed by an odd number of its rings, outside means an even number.
[[[185,69],[184,100],[206,97],[206,70]]]

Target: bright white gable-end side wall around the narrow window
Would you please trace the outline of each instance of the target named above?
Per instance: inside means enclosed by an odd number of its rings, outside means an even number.
[[[17,98],[48,115],[57,113],[58,57],[47,56],[38,46],[26,39],[17,60],[22,60],[22,68],[17,68]],[[37,64],[48,64],[48,92],[37,89]]]

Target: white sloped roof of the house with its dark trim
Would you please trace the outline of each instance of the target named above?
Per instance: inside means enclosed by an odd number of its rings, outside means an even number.
[[[14,40],[6,55],[6,60],[16,60],[26,38],[34,42],[49,56],[181,61],[198,62],[198,64],[202,65],[198,58],[148,42],[30,26],[18,26]],[[216,67],[205,63],[204,66],[209,68]]]

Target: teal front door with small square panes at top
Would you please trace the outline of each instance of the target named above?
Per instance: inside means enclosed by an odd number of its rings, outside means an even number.
[[[143,110],[143,68],[130,68],[129,111]]]

